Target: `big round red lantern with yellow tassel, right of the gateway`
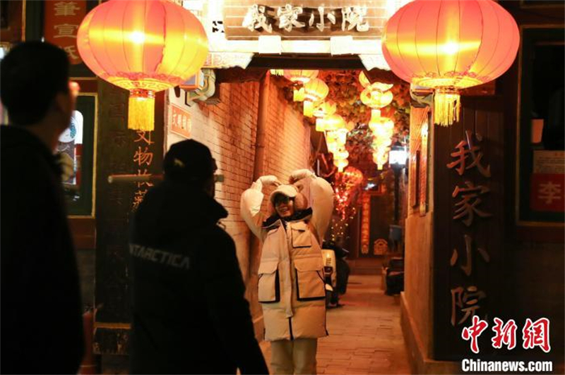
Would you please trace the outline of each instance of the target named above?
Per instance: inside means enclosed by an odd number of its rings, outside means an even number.
[[[435,89],[434,122],[451,125],[459,90],[506,72],[519,44],[516,21],[495,1],[415,0],[388,20],[382,48],[398,77]]]

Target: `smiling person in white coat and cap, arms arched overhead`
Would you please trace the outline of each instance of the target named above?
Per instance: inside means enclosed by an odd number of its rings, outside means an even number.
[[[264,185],[276,186],[268,215],[261,212]],[[241,209],[263,243],[258,301],[265,340],[271,343],[271,371],[316,374],[318,338],[328,334],[321,242],[331,220],[333,189],[307,169],[293,172],[287,185],[263,176],[243,193]]]

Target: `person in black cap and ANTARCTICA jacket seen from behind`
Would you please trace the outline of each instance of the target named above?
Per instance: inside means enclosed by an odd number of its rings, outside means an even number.
[[[268,374],[210,150],[174,144],[163,169],[132,221],[131,373]]]

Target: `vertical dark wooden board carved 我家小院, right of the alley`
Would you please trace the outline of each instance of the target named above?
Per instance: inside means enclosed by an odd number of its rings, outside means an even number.
[[[434,359],[473,355],[473,316],[504,312],[502,97],[463,97],[460,121],[434,128]],[[489,328],[490,330],[491,328]],[[479,338],[492,354],[492,330]]]

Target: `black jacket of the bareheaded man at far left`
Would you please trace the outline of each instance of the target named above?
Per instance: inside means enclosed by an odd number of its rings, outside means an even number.
[[[0,126],[0,155],[0,371],[76,374],[82,306],[59,166],[13,126]]]

